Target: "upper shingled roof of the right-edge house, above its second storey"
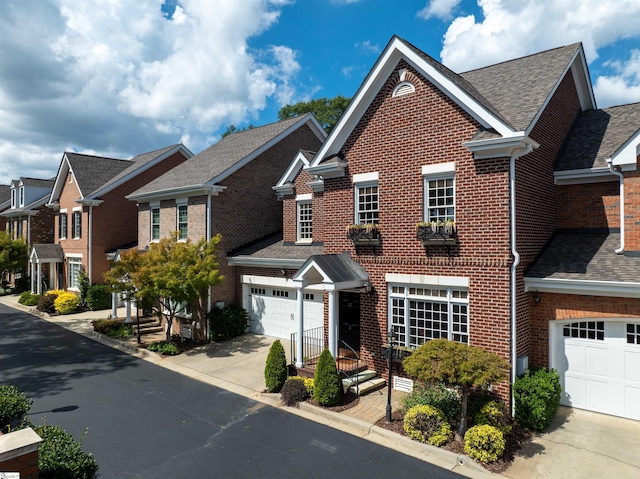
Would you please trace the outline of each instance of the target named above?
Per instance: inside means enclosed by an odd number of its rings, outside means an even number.
[[[556,170],[607,167],[605,159],[638,133],[639,126],[640,103],[582,112]]]

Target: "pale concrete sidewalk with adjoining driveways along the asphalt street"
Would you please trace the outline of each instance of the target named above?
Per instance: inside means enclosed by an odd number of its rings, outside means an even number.
[[[105,319],[110,311],[89,311],[66,316],[43,315],[17,302],[17,296],[0,297],[0,303],[31,312],[68,330],[102,344],[135,355],[185,376],[221,387],[230,392],[281,407],[284,411],[340,429],[404,454],[472,477],[499,477],[465,455],[454,454],[375,426],[384,417],[387,389],[360,398],[357,406],[335,413],[301,403],[284,407],[278,394],[264,393],[264,365],[275,340],[247,334],[224,343],[209,343],[179,356],[162,357],[137,346],[93,331],[91,320]],[[124,309],[118,310],[124,317]],[[281,340],[289,358],[289,342]],[[404,393],[392,391],[396,410]],[[520,478],[639,477],[640,421],[631,421],[587,411],[561,408],[548,432],[538,435],[516,457],[502,476]]]

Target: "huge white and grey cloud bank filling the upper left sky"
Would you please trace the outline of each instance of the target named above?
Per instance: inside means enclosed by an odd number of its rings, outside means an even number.
[[[248,46],[288,0],[3,1],[0,182],[55,174],[65,149],[126,157],[188,139],[295,95],[296,53]],[[47,165],[46,167],[44,165]]]

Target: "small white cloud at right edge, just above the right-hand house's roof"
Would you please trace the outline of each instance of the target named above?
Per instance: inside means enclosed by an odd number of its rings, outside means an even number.
[[[599,107],[640,102],[640,50],[632,50],[627,61],[609,61],[603,66],[616,74],[596,79],[593,89]]]

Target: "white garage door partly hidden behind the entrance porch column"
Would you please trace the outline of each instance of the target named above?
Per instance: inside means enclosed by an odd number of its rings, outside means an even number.
[[[324,324],[322,292],[304,291],[304,329],[318,328]],[[276,338],[290,339],[297,331],[296,290],[272,286],[252,285],[245,296],[249,304],[251,321],[249,331]]]

